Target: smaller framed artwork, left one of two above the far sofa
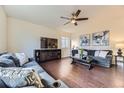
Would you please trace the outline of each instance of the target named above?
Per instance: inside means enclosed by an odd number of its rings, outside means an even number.
[[[90,45],[90,34],[85,34],[80,36],[80,46],[89,46]]]

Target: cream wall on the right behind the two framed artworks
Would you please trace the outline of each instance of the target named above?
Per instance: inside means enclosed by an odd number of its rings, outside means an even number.
[[[79,38],[83,34],[92,34],[110,30],[110,45],[109,46],[86,46],[88,49],[112,49],[115,52],[115,44],[124,41],[124,7],[104,8],[96,16],[89,17],[89,20],[84,23],[80,29],[72,33],[72,46],[79,47]]]

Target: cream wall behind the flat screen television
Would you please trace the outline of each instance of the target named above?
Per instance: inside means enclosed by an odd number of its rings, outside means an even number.
[[[27,21],[8,18],[8,51],[24,52],[29,57],[33,56],[33,50],[40,48],[40,37],[57,38],[60,47],[61,31],[53,30],[45,26],[32,24]],[[63,51],[63,50],[62,50]],[[66,54],[63,54],[62,57]]]

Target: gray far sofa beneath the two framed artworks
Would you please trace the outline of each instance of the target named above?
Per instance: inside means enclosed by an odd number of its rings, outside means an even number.
[[[94,64],[102,66],[102,67],[111,67],[112,65],[112,50],[88,50],[88,49],[83,49],[83,51],[87,52],[87,55],[92,57]],[[95,56],[95,51],[107,51],[107,55],[105,58]],[[72,56],[75,54],[78,54],[78,50],[72,50]]]

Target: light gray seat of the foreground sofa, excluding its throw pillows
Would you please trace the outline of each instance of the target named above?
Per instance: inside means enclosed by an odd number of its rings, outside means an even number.
[[[0,54],[1,55],[1,54]],[[29,59],[28,63],[25,63],[22,68],[33,68],[46,82],[49,86],[56,81],[53,77],[51,77],[33,58]],[[62,81],[61,81],[62,82]],[[0,88],[6,88],[7,86],[0,79]],[[62,82],[60,88],[67,88],[68,86]],[[26,86],[23,88],[35,88],[34,86]]]

